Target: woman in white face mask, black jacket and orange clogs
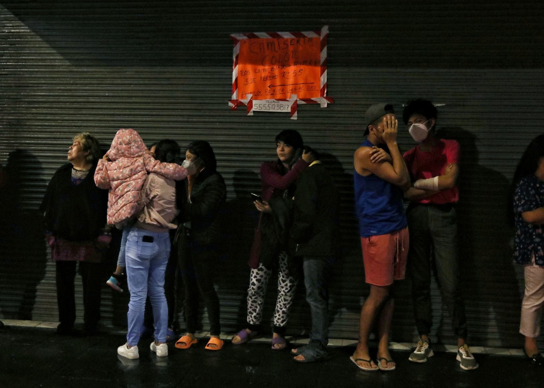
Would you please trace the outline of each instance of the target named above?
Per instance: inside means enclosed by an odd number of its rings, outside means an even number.
[[[184,195],[180,226],[177,231],[177,247],[180,271],[185,284],[185,321],[187,334],[176,347],[187,349],[196,343],[195,333],[199,291],[206,303],[210,325],[210,340],[206,349],[217,351],[223,346],[220,340],[219,297],[213,285],[213,268],[219,255],[219,212],[225,203],[225,181],[216,171],[215,154],[208,142],[197,140],[189,144],[184,166],[194,163],[196,173],[188,176]]]

